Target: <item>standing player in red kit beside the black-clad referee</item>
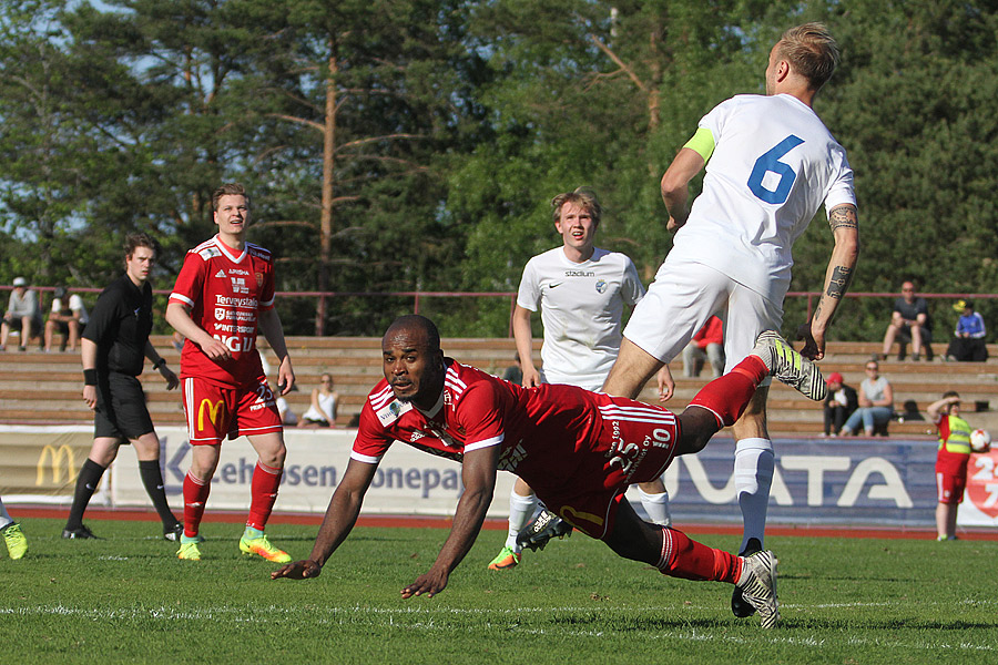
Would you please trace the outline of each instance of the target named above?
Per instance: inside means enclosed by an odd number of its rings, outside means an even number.
[[[197,561],[197,533],[218,466],[222,439],[245,434],[259,456],[251,483],[249,519],[240,550],[268,561],[291,561],[264,535],[284,471],[284,428],[256,350],[257,326],[277,354],[277,388],[295,382],[284,329],[274,309],[271,253],[246,242],[249,196],[222,185],[212,196],[218,233],[191,249],[166,306],[166,320],[186,338],[181,352],[184,413],[193,459],[184,478],[184,534],[180,559]]]

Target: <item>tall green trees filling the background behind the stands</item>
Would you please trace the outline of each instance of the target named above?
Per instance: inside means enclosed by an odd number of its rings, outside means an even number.
[[[251,239],[278,257],[281,290],[516,290],[526,260],[558,244],[548,202],[580,185],[605,208],[598,244],[649,282],[671,247],[659,180],[675,152],[713,105],[761,92],[784,28],[824,20],[843,62],[816,111],[856,174],[853,290],[914,278],[995,293],[992,4],[6,2],[0,282],[102,287],[124,234],[145,229],[169,288],[213,233],[224,181],[249,187]],[[795,247],[792,290],[819,288],[831,246],[822,212]],[[411,308],[334,303],[327,334],[378,335]],[[314,330],[314,304],[279,305],[288,332]],[[508,330],[501,298],[430,307],[452,335]],[[848,301],[832,334],[877,338],[888,308]],[[788,327],[806,315],[787,303]]]

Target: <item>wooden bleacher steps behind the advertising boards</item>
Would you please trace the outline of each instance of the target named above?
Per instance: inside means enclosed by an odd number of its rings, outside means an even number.
[[[180,370],[180,354],[167,336],[153,336],[156,349]],[[265,342],[264,342],[265,344]],[[301,416],[308,408],[312,388],[318,386],[319,375],[329,371],[340,393],[337,424],[345,427],[359,413],[364,399],[380,379],[380,340],[368,337],[289,337],[288,349],[297,375],[299,390],[288,396],[292,410]],[[461,362],[473,365],[501,376],[512,362],[516,351],[512,339],[445,338],[444,351]],[[821,362],[827,376],[839,371],[846,383],[857,387],[863,367],[879,350],[879,342],[833,341]],[[534,341],[539,358],[540,340]],[[880,374],[894,386],[895,408],[904,416],[905,402],[914,401],[924,417],[925,407],[938,399],[944,390],[955,389],[964,399],[964,411],[975,427],[998,431],[998,345],[988,345],[991,359],[987,362],[914,362],[888,359],[880,365]],[[272,386],[276,382],[276,364],[269,350]],[[682,364],[673,364],[676,380],[675,396],[665,406],[681,411],[696,391],[709,380],[682,377]],[[183,424],[183,409],[177,391],[167,392],[159,375],[146,366],[143,385],[149,396],[149,409],[156,424]],[[79,355],[42,354],[38,351],[0,354],[0,423],[2,424],[80,424],[90,423],[90,411],[80,398],[82,375]],[[652,386],[641,399],[655,402]],[[773,437],[819,436],[822,406],[805,399],[796,391],[775,382],[770,393],[770,432]],[[931,436],[931,423],[913,419],[890,423],[890,436]]]

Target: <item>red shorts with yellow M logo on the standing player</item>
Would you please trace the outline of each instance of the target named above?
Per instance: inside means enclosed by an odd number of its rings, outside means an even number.
[[[196,377],[183,380],[184,415],[192,446],[217,446],[225,437],[283,431],[266,377],[255,386],[216,386]]]

